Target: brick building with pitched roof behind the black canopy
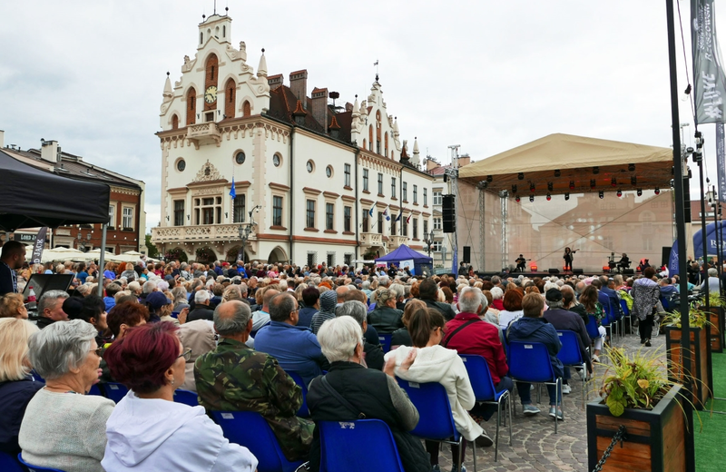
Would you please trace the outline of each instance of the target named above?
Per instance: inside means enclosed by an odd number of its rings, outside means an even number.
[[[0,147],[4,146],[4,133],[0,132]],[[109,227],[106,234],[105,250],[113,254],[125,251],[146,253],[144,234],[146,231],[146,211],[144,211],[145,184],[118,172],[103,169],[83,157],[63,152],[56,141],[42,141],[40,149],[21,150],[17,146],[5,146],[3,151],[15,159],[47,172],[53,172],[71,179],[99,182],[109,185]],[[28,189],[30,192],[31,189]],[[18,195],[30,198],[31,195]],[[69,205],[83,195],[68,195]],[[48,238],[49,248],[75,248],[91,251],[101,246],[101,225],[81,224],[62,226],[52,231]],[[37,229],[15,231],[15,241],[32,244]]]

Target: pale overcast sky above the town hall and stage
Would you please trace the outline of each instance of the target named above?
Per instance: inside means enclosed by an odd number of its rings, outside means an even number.
[[[149,228],[161,199],[159,107],[179,80],[212,0],[0,3],[0,129],[5,144],[65,152],[146,182]],[[681,1],[690,54],[689,2]],[[447,161],[484,159],[550,133],[672,144],[665,3],[654,0],[418,2],[218,1],[232,44],[257,70],[308,69],[309,91],[368,96],[380,62],[403,139]],[[726,6],[717,26],[726,41]],[[679,90],[686,74],[679,44]],[[691,66],[689,65],[689,68]],[[682,95],[682,123],[691,107]],[[715,176],[714,125],[702,125]],[[686,128],[692,143],[693,126]],[[711,180],[713,177],[711,177]],[[29,189],[32,191],[32,189]],[[74,198],[83,198],[75,195]]]

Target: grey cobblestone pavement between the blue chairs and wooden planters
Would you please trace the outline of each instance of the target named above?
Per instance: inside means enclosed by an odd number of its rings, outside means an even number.
[[[652,348],[661,349],[662,356],[665,356],[663,345],[665,336],[660,334],[652,339]],[[625,348],[633,352],[641,348],[640,338],[635,334],[627,334],[624,338],[615,337],[613,346]],[[603,375],[607,364],[595,365],[594,377]],[[535,392],[532,392],[532,401],[542,412],[535,417],[525,418],[522,415],[522,404],[519,397],[513,397],[515,406],[515,417],[513,417],[512,445],[508,444],[508,428],[500,428],[499,457],[494,461],[494,446],[476,448],[476,470],[493,470],[496,472],[505,471],[577,471],[587,470],[587,419],[582,401],[582,380],[577,373],[573,372],[573,379],[570,380],[572,393],[564,395],[564,421],[558,425],[557,434],[554,434],[554,419],[547,414],[549,408],[549,397],[546,389],[542,388],[540,403],[536,404]],[[588,386],[590,399],[595,397],[593,382]],[[487,434],[495,437],[495,416],[489,421],[482,423]],[[452,469],[451,452],[448,446],[441,448],[439,457],[441,470]],[[468,472],[474,471],[474,462],[471,455],[471,447],[466,446],[466,458],[464,465]]]

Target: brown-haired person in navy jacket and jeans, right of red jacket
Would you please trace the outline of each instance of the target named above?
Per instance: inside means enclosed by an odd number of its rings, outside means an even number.
[[[592,288],[594,289],[594,287]],[[550,361],[552,362],[552,367],[554,369],[554,376],[563,377],[564,369],[562,361],[557,359],[557,353],[562,348],[562,343],[557,336],[557,330],[554,329],[554,326],[542,318],[542,315],[544,314],[544,300],[542,300],[542,295],[539,293],[527,293],[524,300],[522,300],[522,309],[525,312],[525,316],[514,321],[509,326],[509,329],[506,331],[506,339],[508,342],[529,341],[543,343],[549,351]],[[525,416],[536,415],[540,411],[539,408],[532,405],[529,391],[530,385],[531,384],[525,382],[517,382],[516,384],[516,389],[519,392],[519,398],[522,400],[522,407],[524,409]],[[549,415],[552,418],[555,418],[556,415],[557,419],[562,420],[564,418],[562,408],[557,408],[555,411],[556,389],[558,388],[555,388],[554,385],[547,385],[547,393],[549,393],[550,396]],[[559,393],[559,395],[556,397],[558,398],[556,403],[562,405],[562,392],[557,393]]]

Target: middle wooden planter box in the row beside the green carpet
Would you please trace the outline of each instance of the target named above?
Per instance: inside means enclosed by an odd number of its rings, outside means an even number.
[[[672,382],[684,383],[683,357],[681,348],[681,329],[668,326],[665,328],[665,349],[668,357],[668,378]],[[711,356],[706,329],[691,329],[691,376],[695,408],[703,409],[706,400],[713,397],[711,385]]]

